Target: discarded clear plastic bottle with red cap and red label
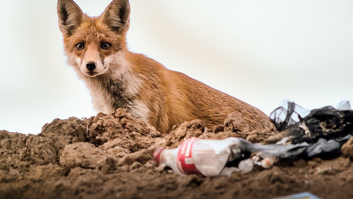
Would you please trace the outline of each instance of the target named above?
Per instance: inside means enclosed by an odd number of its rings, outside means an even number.
[[[239,143],[239,139],[234,137],[225,140],[189,138],[178,148],[157,149],[153,157],[157,163],[169,166],[180,175],[219,176],[228,161],[241,158],[241,150],[237,147]],[[242,169],[245,172],[254,167],[251,159],[241,165],[244,165]],[[234,171],[239,170],[236,168]]]

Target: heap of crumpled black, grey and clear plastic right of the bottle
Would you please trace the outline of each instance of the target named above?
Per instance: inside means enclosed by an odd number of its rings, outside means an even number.
[[[349,101],[339,103],[342,109],[326,106],[309,114],[294,102],[287,103],[288,107],[279,107],[270,114],[279,132],[265,141],[269,144],[250,144],[248,147],[253,153],[282,158],[328,157],[339,154],[342,145],[353,135],[353,110]]]

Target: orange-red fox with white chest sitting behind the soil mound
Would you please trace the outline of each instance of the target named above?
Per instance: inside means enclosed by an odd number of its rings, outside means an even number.
[[[67,63],[89,89],[97,112],[125,108],[164,134],[195,119],[209,128],[222,125],[232,112],[241,114],[250,130],[275,128],[250,104],[131,52],[126,41],[130,9],[128,0],[113,0],[100,16],[90,17],[74,1],[58,0]]]

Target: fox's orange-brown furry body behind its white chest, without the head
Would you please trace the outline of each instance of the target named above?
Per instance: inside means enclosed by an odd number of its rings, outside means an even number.
[[[261,110],[201,83],[189,76],[168,70],[162,64],[141,54],[132,53],[137,74],[144,74],[140,96],[151,107],[150,123],[168,131],[175,124],[193,119],[208,127],[223,124],[229,113],[244,116],[251,130],[274,127]],[[144,92],[152,90],[152,92]],[[148,96],[148,97],[146,97]],[[158,106],[156,106],[158,104]]]

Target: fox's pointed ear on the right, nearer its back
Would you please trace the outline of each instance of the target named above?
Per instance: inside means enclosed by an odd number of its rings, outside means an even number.
[[[113,0],[104,10],[103,22],[118,34],[130,27],[130,4],[128,0]]]

